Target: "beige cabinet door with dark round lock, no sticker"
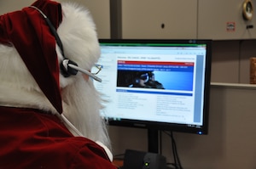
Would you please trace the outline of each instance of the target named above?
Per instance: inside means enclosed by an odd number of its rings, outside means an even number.
[[[197,0],[123,0],[123,38],[196,38]]]

